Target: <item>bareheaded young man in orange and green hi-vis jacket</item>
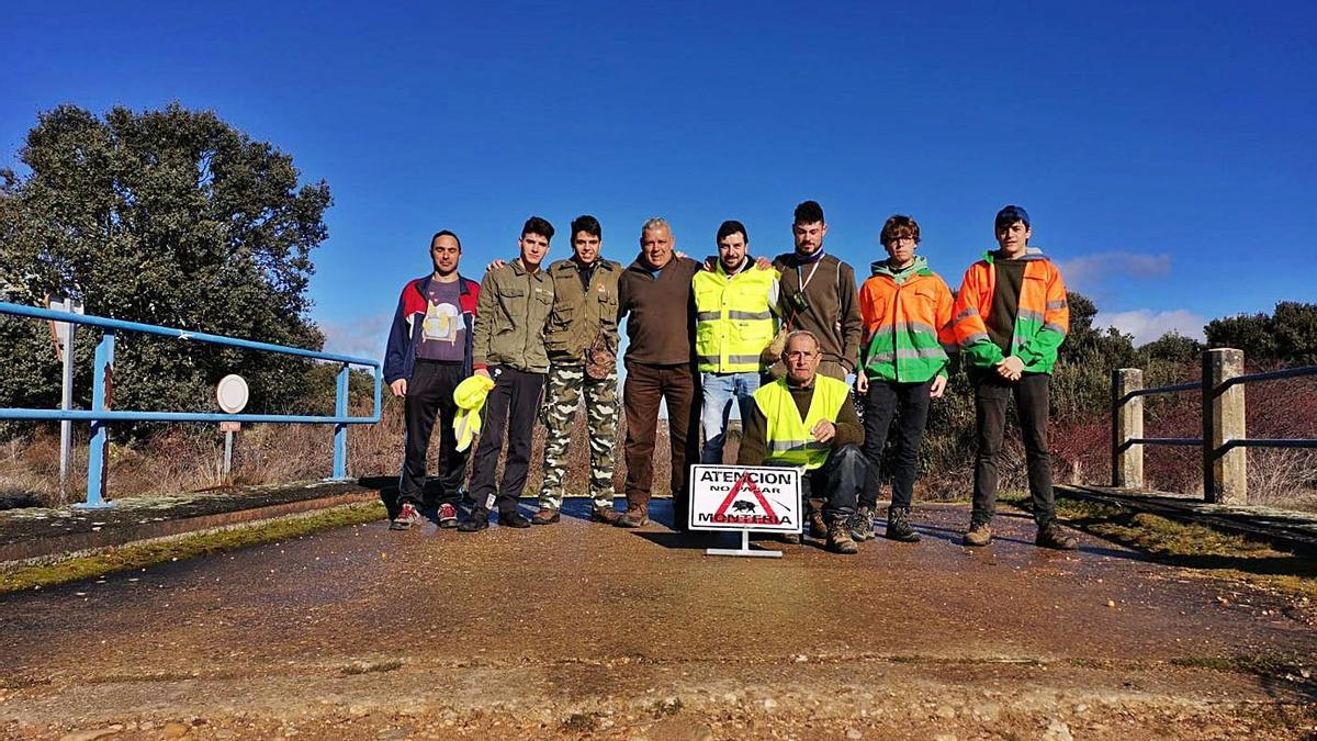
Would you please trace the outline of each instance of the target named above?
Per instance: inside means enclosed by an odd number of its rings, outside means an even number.
[[[886,260],[871,266],[873,276],[860,286],[860,314],[865,344],[860,351],[856,390],[864,397],[864,456],[869,484],[860,494],[851,534],[864,541],[873,533],[873,510],[882,481],[884,448],[896,425],[892,505],[886,537],[915,543],[910,505],[919,463],[919,440],[928,422],[930,400],[947,388],[955,336],[951,330],[951,289],[915,256],[919,224],[910,216],[892,216],[878,237]]]

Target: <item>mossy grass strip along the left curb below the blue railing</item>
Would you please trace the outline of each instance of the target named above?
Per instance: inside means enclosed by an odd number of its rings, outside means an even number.
[[[133,571],[175,559],[183,560],[205,554],[286,541],[320,530],[374,522],[383,517],[385,505],[382,502],[356,504],[331,508],[308,516],[240,525],[225,530],[192,533],[145,543],[126,543],[90,556],[78,556],[37,566],[22,566],[5,571],[0,574],[0,595],[32,589],[34,587],[65,584],[67,581],[78,581],[120,571]]]

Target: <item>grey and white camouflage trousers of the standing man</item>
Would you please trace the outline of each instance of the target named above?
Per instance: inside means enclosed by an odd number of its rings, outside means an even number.
[[[581,365],[551,365],[544,385],[544,483],[540,506],[562,508],[572,429],[585,398],[590,438],[590,498],[595,508],[612,506],[612,447],[618,439],[618,372],[597,381]]]

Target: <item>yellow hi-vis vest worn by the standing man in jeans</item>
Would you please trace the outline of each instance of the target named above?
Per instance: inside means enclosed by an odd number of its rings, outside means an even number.
[[[759,353],[777,335],[777,319],[768,305],[777,270],[745,265],[731,278],[701,270],[691,280],[695,294],[695,361],[705,373],[761,370]]]

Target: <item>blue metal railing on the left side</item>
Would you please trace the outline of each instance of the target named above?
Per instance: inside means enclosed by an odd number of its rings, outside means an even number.
[[[348,477],[348,425],[373,425],[379,422],[381,393],[383,374],[378,360],[369,357],[354,357],[350,355],[337,355],[333,352],[316,352],[298,347],[284,347],[223,335],[209,335],[205,332],[190,332],[173,327],[159,327],[155,324],[140,324],[137,322],[124,322],[108,319],[105,316],[86,316],[67,311],[53,311],[20,303],[0,302],[0,314],[16,316],[30,316],[33,319],[49,319],[51,322],[68,322],[72,324],[86,324],[104,330],[100,341],[96,344],[95,369],[92,373],[91,409],[3,409],[0,419],[71,419],[91,422],[91,444],[87,455],[87,502],[78,505],[82,508],[112,506],[104,497],[105,492],[105,425],[109,422],[274,422],[274,423],[312,423],[333,425],[333,476],[342,480]],[[115,332],[129,331],[146,335],[159,335],[184,341],[203,341],[245,349],[259,349],[278,352],[312,360],[328,360],[340,363],[337,382],[335,385],[335,413],[333,417],[309,417],[295,414],[223,414],[207,411],[122,411],[109,410],[107,392],[113,382],[115,367]],[[353,365],[365,365],[374,369],[375,377],[375,411],[370,417],[350,417],[348,414],[348,377]]]

